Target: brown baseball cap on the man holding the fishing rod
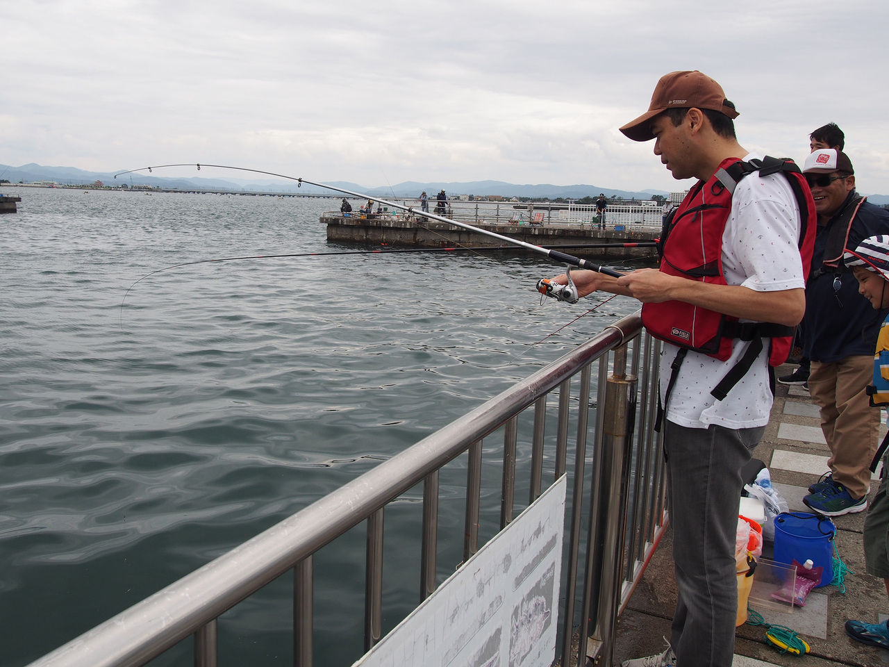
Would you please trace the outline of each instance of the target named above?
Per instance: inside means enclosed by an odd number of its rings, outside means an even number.
[[[697,69],[694,71],[670,72],[661,76],[654,86],[652,103],[642,116],[621,127],[621,132],[633,141],[650,141],[654,135],[650,121],[669,108],[709,108],[730,118],[737,118],[738,112],[729,100],[725,99],[722,86]]]

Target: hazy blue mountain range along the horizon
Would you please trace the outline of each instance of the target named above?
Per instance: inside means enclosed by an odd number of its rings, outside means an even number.
[[[22,165],[18,167],[0,165],[0,179],[18,183],[20,181],[30,183],[34,181],[56,181],[63,185],[92,185],[95,181],[102,181],[105,185],[114,186],[124,182],[133,185],[151,185],[164,189],[228,189],[228,190],[257,190],[262,192],[296,192],[295,181],[281,181],[273,179],[219,179],[205,178],[203,176],[191,178],[164,178],[153,173],[140,172],[119,175],[120,172],[86,172],[76,167]],[[331,181],[332,185],[342,189],[352,190],[362,196],[369,197],[418,197],[420,192],[426,190],[430,198],[434,198],[439,190],[444,189],[448,195],[502,195],[503,197],[533,197],[542,199],[547,197],[555,199],[580,199],[582,197],[597,197],[604,193],[606,197],[623,197],[625,199],[650,199],[653,195],[669,195],[669,192],[659,189],[648,189],[631,192],[613,188],[603,188],[594,185],[517,185],[503,181],[469,181],[469,182],[430,182],[405,181],[393,186],[378,186],[366,188],[363,185],[346,181]],[[300,192],[306,194],[326,194],[331,190],[315,188],[303,185]],[[877,205],[889,204],[887,195],[869,195],[868,201]]]

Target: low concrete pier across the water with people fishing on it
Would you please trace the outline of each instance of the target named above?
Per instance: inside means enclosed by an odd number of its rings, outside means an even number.
[[[370,219],[353,214],[343,217],[339,212],[324,213],[321,223],[327,226],[327,240],[337,242],[362,243],[367,245],[404,245],[425,248],[445,248],[452,246],[492,247],[507,245],[497,238],[485,234],[454,227],[446,222],[424,221],[418,223],[402,216],[390,214],[372,215]],[[477,229],[493,231],[504,237],[548,248],[565,246],[565,252],[586,259],[596,260],[638,260],[653,259],[654,248],[583,248],[589,244],[625,244],[640,241],[653,241],[660,236],[660,229],[641,225],[597,226],[549,222],[540,225],[478,223]],[[622,228],[622,229],[615,229]],[[576,246],[576,247],[569,247]]]

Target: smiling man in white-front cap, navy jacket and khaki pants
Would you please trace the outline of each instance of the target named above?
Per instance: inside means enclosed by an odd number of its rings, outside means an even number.
[[[836,517],[868,505],[868,465],[879,428],[866,388],[880,317],[858,293],[843,252],[867,237],[889,234],[889,211],[855,191],[852,160],[842,151],[815,150],[803,171],[818,211],[812,274],[805,285],[803,355],[811,359],[809,393],[821,409],[821,431],[830,448],[830,470],[809,486],[803,502]]]

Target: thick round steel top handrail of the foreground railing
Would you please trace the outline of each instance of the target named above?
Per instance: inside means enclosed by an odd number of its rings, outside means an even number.
[[[509,390],[44,655],[31,663],[32,667],[137,667],[147,663],[452,461],[580,368],[637,335],[641,327],[638,313],[621,318]]]

